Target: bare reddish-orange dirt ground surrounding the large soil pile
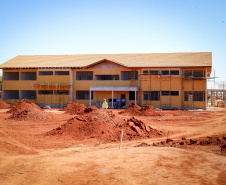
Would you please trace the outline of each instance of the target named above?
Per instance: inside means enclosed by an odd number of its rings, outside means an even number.
[[[226,184],[226,109],[212,111],[157,111],[134,116],[163,135],[105,142],[90,137],[46,135],[75,115],[49,109],[51,119],[6,119],[0,109],[0,184]],[[110,110],[108,110],[110,111]],[[130,115],[118,114],[123,119]],[[166,141],[170,143],[153,146]],[[185,144],[217,137],[219,144]],[[175,141],[175,143],[173,143]],[[142,144],[143,143],[143,144]],[[140,147],[135,147],[140,146]]]

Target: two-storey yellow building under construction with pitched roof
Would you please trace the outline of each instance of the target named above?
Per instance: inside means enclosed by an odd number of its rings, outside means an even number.
[[[2,97],[40,107],[69,102],[109,107],[207,108],[211,52],[16,56],[0,65]],[[125,99],[125,102],[122,101]]]

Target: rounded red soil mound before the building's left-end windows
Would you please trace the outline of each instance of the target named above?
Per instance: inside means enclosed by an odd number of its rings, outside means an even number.
[[[11,105],[11,109],[8,113],[12,113],[8,119],[18,121],[29,121],[29,120],[46,120],[50,119],[50,116],[39,108],[36,104],[28,102],[26,100],[16,102]]]

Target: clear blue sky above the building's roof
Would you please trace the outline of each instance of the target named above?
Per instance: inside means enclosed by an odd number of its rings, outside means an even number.
[[[17,55],[172,52],[212,52],[216,81],[226,81],[226,1],[0,0],[0,64]]]

